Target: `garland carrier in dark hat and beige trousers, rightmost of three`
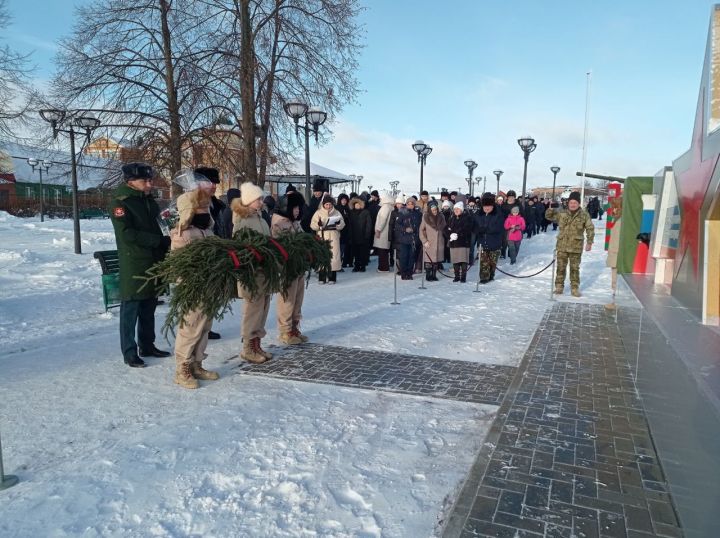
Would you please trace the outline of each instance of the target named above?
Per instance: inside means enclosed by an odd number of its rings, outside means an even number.
[[[288,192],[278,200],[272,216],[270,233],[273,237],[283,234],[303,232],[300,221],[305,199],[299,192]],[[305,279],[298,277],[287,289],[286,295],[279,294],[277,299],[277,323],[280,341],[284,344],[302,344],[308,337],[300,332],[302,319],[302,303],[305,298]]]

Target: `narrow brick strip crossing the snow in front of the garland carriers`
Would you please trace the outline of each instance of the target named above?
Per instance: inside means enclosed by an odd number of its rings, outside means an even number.
[[[273,360],[238,367],[247,375],[384,390],[500,405],[517,368],[415,355],[302,344],[272,350]]]

